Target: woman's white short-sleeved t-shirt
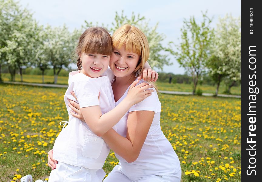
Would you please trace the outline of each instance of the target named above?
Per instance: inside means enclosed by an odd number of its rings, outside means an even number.
[[[145,81],[139,81],[139,83],[143,82]],[[128,89],[115,103],[115,106],[117,106],[126,97]],[[160,128],[161,103],[155,89],[151,96],[132,106],[123,118],[116,124],[117,133],[126,137],[128,113],[141,110],[154,111],[155,115],[153,122],[136,161],[128,163],[125,159],[116,154],[116,157],[120,162],[119,164],[122,166],[123,172],[132,181],[139,180],[142,177],[165,174],[168,175],[179,172],[181,169],[180,161],[172,145],[166,139]]]

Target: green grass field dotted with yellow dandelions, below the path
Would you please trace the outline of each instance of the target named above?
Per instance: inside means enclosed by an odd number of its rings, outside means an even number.
[[[0,181],[48,178],[47,152],[68,120],[65,88],[0,84]],[[240,99],[159,95],[161,127],[182,181],[240,181]],[[103,167],[118,163],[113,151]],[[16,175],[16,177],[15,177]]]

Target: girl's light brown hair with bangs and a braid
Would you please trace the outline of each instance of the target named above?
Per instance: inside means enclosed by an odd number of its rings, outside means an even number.
[[[77,70],[82,67],[81,58],[79,57],[82,52],[111,56],[113,49],[110,33],[103,27],[90,27],[82,33],[75,51],[78,56]]]

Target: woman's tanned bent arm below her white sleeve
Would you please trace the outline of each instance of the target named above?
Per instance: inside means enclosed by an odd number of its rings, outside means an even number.
[[[127,162],[134,162],[140,154],[149,128],[154,118],[154,111],[133,111],[127,119],[126,138],[111,129],[102,138],[109,147]]]

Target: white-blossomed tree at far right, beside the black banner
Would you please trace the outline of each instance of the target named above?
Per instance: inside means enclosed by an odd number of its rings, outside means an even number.
[[[240,18],[226,15],[219,19],[212,46],[212,58],[207,63],[209,74],[217,83],[226,78],[227,92],[240,80]]]

